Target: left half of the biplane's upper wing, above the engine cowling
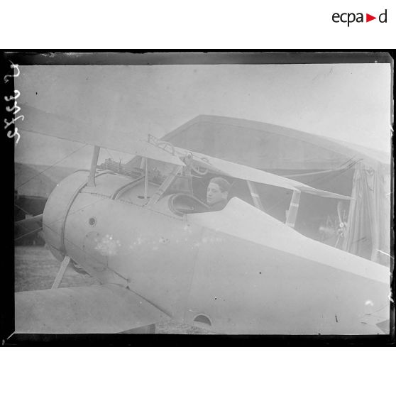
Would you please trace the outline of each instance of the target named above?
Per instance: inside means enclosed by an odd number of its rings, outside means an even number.
[[[99,145],[110,150],[141,155],[175,165],[184,165],[176,155],[160,150],[147,141],[133,139],[126,141],[124,136],[121,137],[114,131],[108,131],[104,126],[95,126],[92,123],[85,123],[69,116],[48,113],[28,104],[22,106],[25,118],[20,121],[21,123],[18,126],[24,131],[54,136],[67,141]],[[62,131],[67,131],[67,136]]]

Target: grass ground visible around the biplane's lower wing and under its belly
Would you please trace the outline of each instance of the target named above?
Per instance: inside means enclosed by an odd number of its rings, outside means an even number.
[[[60,263],[44,246],[16,246],[15,248],[15,291],[50,289]],[[99,285],[97,280],[77,273],[68,267],[60,287]],[[212,334],[195,326],[163,321],[155,325],[159,334]]]

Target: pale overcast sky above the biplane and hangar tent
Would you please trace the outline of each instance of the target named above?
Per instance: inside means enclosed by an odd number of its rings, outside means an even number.
[[[29,104],[104,125],[118,136],[163,136],[199,114],[211,114],[390,151],[390,65],[385,64],[23,66],[15,82],[20,114]],[[89,166],[92,147],[77,150],[80,143],[20,132],[18,162]],[[67,131],[62,134],[67,137]],[[103,158],[131,157],[101,151]]]

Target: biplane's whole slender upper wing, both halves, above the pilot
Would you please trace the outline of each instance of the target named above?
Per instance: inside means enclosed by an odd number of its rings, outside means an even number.
[[[345,195],[309,187],[308,185],[304,185],[304,183],[287,179],[287,177],[274,175],[273,173],[264,172],[263,170],[246,165],[220,160],[219,158],[209,157],[209,155],[190,152],[183,148],[174,148],[171,153],[169,150],[160,148],[153,143],[148,143],[148,141],[135,141],[133,139],[125,141],[124,136],[114,133],[114,131],[108,131],[104,126],[94,126],[91,123],[84,123],[69,116],[48,113],[28,106],[28,104],[23,104],[23,113],[25,119],[21,121],[20,125],[21,129],[25,131],[42,133],[44,135],[90,145],[99,145],[111,150],[140,155],[174,165],[185,165],[182,159],[192,154],[192,160],[195,163],[207,167],[213,172],[219,172],[238,179],[250,180],[251,182],[263,183],[265,185],[307,192],[321,197],[351,199],[351,197],[346,197]],[[62,131],[67,131],[67,137],[62,135]]]

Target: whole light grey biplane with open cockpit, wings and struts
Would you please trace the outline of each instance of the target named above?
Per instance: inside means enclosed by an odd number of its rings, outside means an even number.
[[[173,318],[220,334],[383,334],[388,268],[293,229],[299,197],[348,200],[286,177],[191,152],[152,136],[119,141],[100,126],[23,105],[25,131],[94,145],[90,170],[62,180],[42,216],[60,261],[50,290],[16,293],[17,333],[118,333]],[[70,133],[61,136],[65,130]],[[128,172],[101,169],[100,148],[136,155]],[[208,211],[192,180],[246,182]],[[292,191],[285,223],[265,213],[257,183]],[[58,287],[67,265],[100,285]]]

